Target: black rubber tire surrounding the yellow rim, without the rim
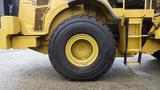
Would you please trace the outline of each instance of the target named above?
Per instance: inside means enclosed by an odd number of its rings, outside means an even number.
[[[67,60],[65,44],[76,34],[88,34],[98,43],[99,55],[94,63],[80,68]],[[49,43],[49,58],[52,66],[69,80],[95,80],[107,72],[115,59],[115,40],[109,28],[101,21],[89,16],[74,16],[61,23]]]

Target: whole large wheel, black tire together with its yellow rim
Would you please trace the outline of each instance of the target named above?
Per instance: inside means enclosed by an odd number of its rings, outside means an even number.
[[[55,70],[69,80],[95,80],[111,68],[115,40],[96,18],[74,16],[54,31],[49,58]]]

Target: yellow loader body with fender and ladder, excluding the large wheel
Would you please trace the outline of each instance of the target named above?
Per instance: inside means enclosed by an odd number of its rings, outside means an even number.
[[[107,0],[88,0],[89,5],[74,3],[77,0],[19,0],[19,14],[0,17],[0,48],[31,48],[48,53],[48,41],[58,24],[65,19],[77,16],[94,16],[106,24],[119,24],[119,41],[117,56],[123,56],[126,41],[126,20],[128,20],[128,55],[149,53],[160,50],[160,17],[155,17],[152,0],[143,9],[126,9],[125,0],[122,7],[114,8]],[[79,0],[81,1],[81,0]],[[82,0],[87,1],[87,0]],[[73,2],[73,3],[72,3]],[[87,8],[87,9],[86,9]],[[149,38],[142,45],[142,25],[145,19],[154,23],[149,31]]]

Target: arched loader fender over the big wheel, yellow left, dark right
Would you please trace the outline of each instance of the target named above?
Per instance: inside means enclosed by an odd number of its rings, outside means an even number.
[[[78,6],[78,5],[90,5],[90,6],[94,6],[94,7],[100,7],[103,9],[103,12],[105,12],[106,16],[108,17],[108,19],[110,19],[111,21],[118,21],[120,18],[118,16],[116,16],[113,11],[112,11],[112,7],[110,6],[109,2],[106,0],[69,0],[68,2],[63,2],[61,4],[61,6],[58,6],[56,9],[50,9],[50,11],[48,12],[48,14],[46,15],[46,20],[45,20],[45,25],[44,25],[44,30],[46,30],[45,32],[47,37],[46,40],[48,40],[50,38],[50,33],[52,33],[53,28],[55,27],[55,19],[58,15],[60,15],[61,12]],[[54,21],[54,23],[53,23]],[[57,23],[57,21],[56,21]]]

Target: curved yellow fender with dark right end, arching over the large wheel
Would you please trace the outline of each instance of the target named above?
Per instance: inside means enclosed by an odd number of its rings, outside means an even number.
[[[117,20],[119,19],[119,17],[117,17],[114,13],[113,13],[113,9],[110,6],[109,2],[107,0],[69,0],[69,1],[52,1],[51,5],[53,3],[57,3],[59,5],[57,5],[56,7],[50,7],[49,11],[47,12],[47,14],[45,15],[45,22],[44,22],[44,31],[46,32],[45,34],[49,33],[49,30],[52,26],[52,21],[56,18],[56,16],[58,14],[60,14],[62,11],[66,10],[69,7],[73,7],[73,6],[77,6],[77,5],[85,5],[87,4],[93,4],[93,5],[101,5],[103,7],[103,9],[105,10],[106,13],[109,13],[107,15],[109,15],[109,17],[112,20]],[[53,4],[54,5],[54,4]],[[65,16],[64,16],[65,17]]]

